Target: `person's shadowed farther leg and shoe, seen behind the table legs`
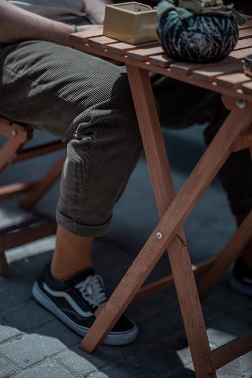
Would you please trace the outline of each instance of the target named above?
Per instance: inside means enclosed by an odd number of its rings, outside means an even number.
[[[159,103],[161,124],[181,129],[208,122],[205,139],[209,144],[229,113],[220,95],[160,75],[152,75],[151,79]],[[219,177],[239,226],[252,208],[252,169],[248,149],[232,153]],[[241,251],[233,278],[233,287],[252,296],[252,240]]]

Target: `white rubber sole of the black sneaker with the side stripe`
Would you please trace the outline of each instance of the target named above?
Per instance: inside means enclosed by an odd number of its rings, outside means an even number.
[[[52,312],[61,322],[65,323],[69,328],[78,333],[80,336],[85,336],[89,328],[80,326],[74,321],[69,319],[64,312],[62,312],[53,301],[48,298],[44,292],[39,288],[37,282],[34,283],[32,288],[32,294],[34,298],[47,310]],[[138,327],[134,324],[134,327],[129,331],[123,332],[109,332],[103,344],[106,345],[125,345],[132,343],[136,340],[138,335]]]

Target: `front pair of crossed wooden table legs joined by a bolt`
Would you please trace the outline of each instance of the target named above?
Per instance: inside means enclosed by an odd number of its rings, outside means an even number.
[[[80,347],[87,352],[99,347],[168,248],[196,376],[216,377],[214,365],[208,359],[210,346],[182,225],[228,158],[236,137],[249,127],[252,113],[249,106],[237,107],[235,98],[223,97],[231,112],[176,196],[148,71],[131,65],[127,71],[161,220],[109,300],[101,306]]]

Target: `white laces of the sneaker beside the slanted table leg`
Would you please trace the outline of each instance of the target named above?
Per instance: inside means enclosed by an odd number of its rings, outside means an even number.
[[[104,290],[104,282],[98,275],[88,276],[84,281],[75,285],[75,288],[92,306],[99,306],[108,299]]]

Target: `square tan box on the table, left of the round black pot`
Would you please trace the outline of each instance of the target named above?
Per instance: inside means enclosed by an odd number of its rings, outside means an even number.
[[[155,41],[156,21],[157,12],[148,5],[135,2],[107,5],[103,34],[133,44]]]

